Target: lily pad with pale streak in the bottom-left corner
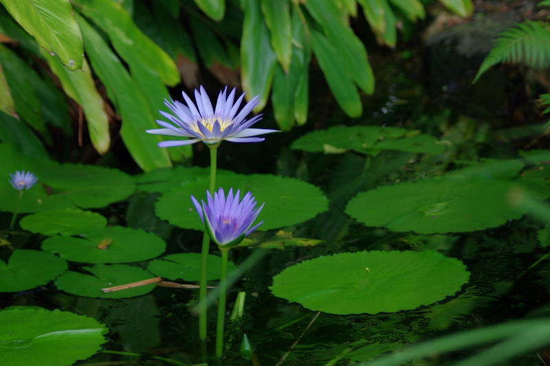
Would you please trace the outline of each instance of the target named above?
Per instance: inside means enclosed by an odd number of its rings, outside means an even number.
[[[0,311],[0,365],[67,366],[98,352],[107,328],[96,319],[60,310]]]

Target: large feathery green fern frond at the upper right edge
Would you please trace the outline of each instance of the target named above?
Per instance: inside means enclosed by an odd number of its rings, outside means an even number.
[[[550,66],[550,28],[542,21],[525,21],[507,28],[479,67],[474,82],[490,67],[500,62],[514,62],[544,69]]]

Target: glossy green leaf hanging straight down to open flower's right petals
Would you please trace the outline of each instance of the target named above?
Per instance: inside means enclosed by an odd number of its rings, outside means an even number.
[[[246,0],[243,37],[241,38],[241,80],[247,91],[246,99],[260,95],[260,102],[254,111],[263,109],[270,93],[271,83],[277,65],[276,56],[270,45],[270,33],[263,22],[260,2]]]

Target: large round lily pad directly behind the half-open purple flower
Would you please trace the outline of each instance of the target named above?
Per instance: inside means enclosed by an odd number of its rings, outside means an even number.
[[[327,198],[321,190],[309,183],[269,174],[230,174],[220,176],[217,186],[225,192],[232,187],[244,194],[248,191],[265,207],[258,221],[263,220],[261,230],[275,229],[304,222],[327,209]],[[184,229],[202,230],[204,225],[191,203],[190,196],[206,200],[208,179],[182,185],[163,194],[155,205],[157,216]],[[243,196],[241,194],[241,197]]]

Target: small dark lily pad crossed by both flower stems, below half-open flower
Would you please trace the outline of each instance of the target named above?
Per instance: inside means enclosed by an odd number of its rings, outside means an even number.
[[[217,255],[208,255],[208,281],[219,279],[221,258]],[[171,279],[184,279],[185,281],[198,281],[201,277],[200,253],[179,253],[166,255],[148,264],[149,272],[159,277]],[[228,272],[236,270],[232,262],[228,262]]]

